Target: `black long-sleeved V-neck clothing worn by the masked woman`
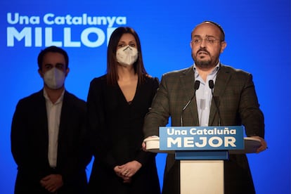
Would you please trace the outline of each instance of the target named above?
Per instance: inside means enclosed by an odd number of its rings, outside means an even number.
[[[159,81],[145,77],[134,99],[127,102],[118,84],[107,84],[106,75],[91,81],[87,98],[90,143],[95,157],[89,179],[90,193],[160,193],[155,154],[141,149],[143,119]],[[141,169],[123,183],[113,168],[136,160]]]

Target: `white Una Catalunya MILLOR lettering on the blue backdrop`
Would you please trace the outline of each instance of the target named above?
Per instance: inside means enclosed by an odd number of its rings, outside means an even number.
[[[20,15],[20,13],[7,13],[7,22],[10,25],[39,25],[40,18],[37,15],[28,16]],[[23,41],[25,47],[31,47],[32,44],[37,47],[45,46],[65,46],[65,47],[98,47],[108,44],[110,35],[117,27],[114,25],[125,25],[126,17],[117,16],[88,16],[83,13],[79,16],[55,15],[54,13],[46,13],[42,17],[41,26],[24,27],[19,30],[16,27],[7,27],[7,46],[14,46],[15,41]],[[63,27],[63,33],[59,32],[59,28],[42,27],[42,25],[108,25],[106,31],[97,27],[88,27],[79,32],[79,39],[73,33],[71,27]],[[79,29],[78,29],[79,30]],[[56,31],[56,32],[55,32]],[[60,34],[61,33],[61,34]],[[34,41],[34,42],[33,42]],[[106,41],[106,42],[105,42]],[[186,134],[186,131],[180,134]]]

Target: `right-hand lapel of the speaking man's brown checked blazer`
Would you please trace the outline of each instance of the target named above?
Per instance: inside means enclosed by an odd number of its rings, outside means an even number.
[[[231,78],[230,72],[227,70],[227,68],[224,65],[220,64],[219,72],[217,72],[217,77],[216,77],[216,81],[215,81],[215,85],[214,85],[214,96],[218,96],[219,99],[221,99],[222,96],[224,96],[224,91],[226,89],[227,83],[228,83],[230,78]],[[218,105],[218,106],[220,106],[220,105]],[[208,122],[209,126],[214,125],[214,117],[216,114],[217,114],[217,110],[216,110],[216,106],[214,104],[214,98],[212,98],[210,114],[209,114],[209,122]],[[218,118],[218,116],[217,116],[217,118]],[[223,122],[223,120],[222,120],[222,122]]]

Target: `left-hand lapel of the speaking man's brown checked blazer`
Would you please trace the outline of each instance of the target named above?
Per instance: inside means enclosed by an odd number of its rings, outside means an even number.
[[[187,68],[185,71],[182,72],[182,75],[180,76],[180,80],[182,84],[181,87],[183,89],[183,92],[185,93],[184,101],[188,103],[188,101],[190,101],[193,95],[195,95],[194,93],[195,75],[193,72],[193,66]],[[191,125],[191,126],[199,126],[198,110],[197,110],[197,103],[196,103],[195,97],[192,99],[192,101],[188,105],[188,109],[190,110],[190,114],[191,114],[190,118],[192,119],[184,123],[185,124],[188,123],[188,125]]]

